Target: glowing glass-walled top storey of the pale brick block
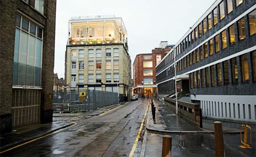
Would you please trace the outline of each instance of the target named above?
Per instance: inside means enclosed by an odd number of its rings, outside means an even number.
[[[69,20],[68,30],[68,45],[123,43],[127,46],[123,19],[114,15],[74,17]]]

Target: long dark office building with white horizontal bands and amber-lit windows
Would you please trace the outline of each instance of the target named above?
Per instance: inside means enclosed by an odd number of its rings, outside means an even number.
[[[176,78],[203,116],[256,122],[256,1],[215,1],[156,71],[159,94],[172,94]]]

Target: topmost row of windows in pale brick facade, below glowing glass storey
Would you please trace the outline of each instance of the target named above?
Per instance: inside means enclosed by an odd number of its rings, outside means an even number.
[[[106,48],[106,57],[111,57],[111,48]],[[77,56],[77,51],[76,50],[72,50],[71,51],[71,56]],[[88,57],[91,58],[91,57],[101,57],[101,49],[100,48],[97,48],[95,50],[95,54],[94,54],[94,49],[89,49],[89,52],[88,52]],[[113,56],[114,57],[118,57],[119,56],[119,49],[118,48],[114,48],[113,49]],[[78,50],[78,57],[84,57],[84,49],[79,49]]]

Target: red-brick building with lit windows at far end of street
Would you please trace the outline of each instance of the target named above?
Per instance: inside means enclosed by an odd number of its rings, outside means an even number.
[[[155,67],[171,50],[166,46],[167,42],[161,42],[160,47],[153,49],[152,53],[138,54],[135,57],[133,62],[133,93],[138,94],[139,97],[151,97],[157,94]]]

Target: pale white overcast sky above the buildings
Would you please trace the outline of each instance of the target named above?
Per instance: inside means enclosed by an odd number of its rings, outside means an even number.
[[[54,73],[65,75],[68,20],[73,16],[115,15],[123,18],[132,64],[161,41],[176,44],[215,0],[57,0]]]

